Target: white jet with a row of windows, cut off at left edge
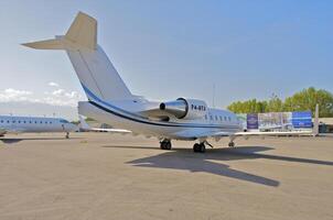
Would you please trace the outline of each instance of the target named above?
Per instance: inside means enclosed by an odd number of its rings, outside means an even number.
[[[8,133],[64,132],[66,139],[77,127],[65,119],[42,117],[0,116],[0,136]]]

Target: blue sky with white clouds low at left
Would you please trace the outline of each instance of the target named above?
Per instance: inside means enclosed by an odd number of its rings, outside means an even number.
[[[1,0],[0,113],[76,118],[86,97],[65,52],[20,44],[64,34],[78,11],[98,20],[132,94],[152,100],[226,108],[310,86],[333,92],[330,0]]]

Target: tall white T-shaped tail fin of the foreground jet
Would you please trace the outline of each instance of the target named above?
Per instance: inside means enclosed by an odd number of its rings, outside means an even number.
[[[118,72],[97,45],[97,21],[79,12],[65,35],[23,44],[37,50],[64,50],[88,97],[93,101],[133,99]]]

